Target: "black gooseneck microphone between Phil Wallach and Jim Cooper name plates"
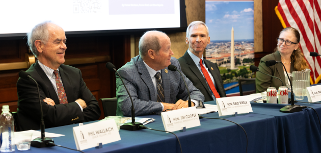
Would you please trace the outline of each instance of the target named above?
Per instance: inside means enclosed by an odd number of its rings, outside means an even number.
[[[128,95],[129,95],[129,97],[130,97],[130,101],[131,101],[131,123],[125,123],[125,124],[121,125],[121,126],[120,126],[120,129],[122,129],[122,130],[129,130],[129,131],[142,130],[141,127],[140,127],[140,125],[143,125],[143,124],[140,123],[140,122],[135,122],[135,108],[134,108],[134,106],[133,106],[133,102],[132,102],[131,95],[130,95],[130,93],[129,93],[127,87],[126,87],[126,85],[124,84],[124,81],[123,81],[123,79],[121,78],[120,74],[117,72],[115,65],[112,64],[111,62],[108,62],[108,63],[106,63],[106,68],[108,68],[110,71],[115,71],[115,72],[118,74],[121,82],[123,83],[123,85],[124,85],[124,87],[125,87]]]

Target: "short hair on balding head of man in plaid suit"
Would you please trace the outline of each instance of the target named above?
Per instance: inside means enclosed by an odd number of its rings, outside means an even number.
[[[147,31],[139,40],[138,48],[139,48],[139,55],[144,58],[147,54],[149,49],[155,50],[155,53],[158,54],[159,49],[162,48],[161,44],[159,44],[159,39],[156,35],[147,36],[146,34],[149,32],[161,32],[161,31]],[[164,32],[161,32],[165,34]]]

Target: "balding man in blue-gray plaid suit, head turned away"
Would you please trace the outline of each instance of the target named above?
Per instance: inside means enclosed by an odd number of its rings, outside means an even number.
[[[188,108],[188,91],[179,72],[170,71],[172,64],[181,71],[176,58],[171,57],[170,38],[163,32],[146,32],[139,41],[139,56],[118,69],[132,97],[135,115],[158,114],[162,111]],[[203,108],[204,96],[185,77],[192,106]],[[117,116],[131,115],[131,101],[116,74]],[[177,100],[176,102],[176,99]]]

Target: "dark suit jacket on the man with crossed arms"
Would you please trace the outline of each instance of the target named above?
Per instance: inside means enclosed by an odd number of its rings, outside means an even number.
[[[26,71],[34,78],[40,91],[43,119],[45,128],[68,125],[72,123],[97,120],[100,117],[98,101],[86,87],[79,69],[61,65],[59,67],[60,77],[67,95],[68,104],[60,105],[55,89],[45,72],[41,69],[38,61],[32,64]],[[31,79],[19,78],[18,90],[18,121],[22,131],[40,129],[40,104],[37,86]],[[45,97],[55,101],[55,106],[44,103]],[[74,102],[81,98],[86,101],[87,107],[82,112],[79,105]],[[74,120],[73,120],[74,119]]]

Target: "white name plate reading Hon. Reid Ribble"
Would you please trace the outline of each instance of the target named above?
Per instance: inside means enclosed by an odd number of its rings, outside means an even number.
[[[219,116],[233,115],[235,112],[237,114],[253,112],[248,96],[217,98],[216,105]]]

